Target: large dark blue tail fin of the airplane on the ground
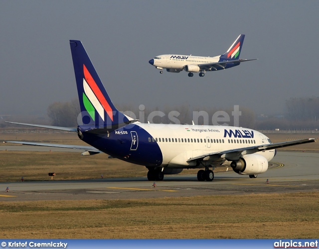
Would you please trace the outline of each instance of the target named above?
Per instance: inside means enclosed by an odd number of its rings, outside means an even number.
[[[81,41],[70,40],[70,47],[81,107],[79,125],[113,130],[130,123],[113,105]]]

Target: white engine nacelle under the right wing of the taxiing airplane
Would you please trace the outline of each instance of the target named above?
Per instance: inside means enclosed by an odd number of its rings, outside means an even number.
[[[237,174],[259,174],[267,171],[268,161],[262,155],[250,154],[231,162],[230,166]]]

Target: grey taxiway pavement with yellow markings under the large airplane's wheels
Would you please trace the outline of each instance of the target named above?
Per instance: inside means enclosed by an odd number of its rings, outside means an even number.
[[[319,153],[278,152],[274,166],[257,178],[215,173],[212,182],[196,175],[165,175],[163,181],[146,177],[68,181],[1,182],[0,201],[140,199],[196,195],[232,195],[319,191]],[[268,179],[268,182],[267,182]],[[9,191],[6,192],[6,187]]]

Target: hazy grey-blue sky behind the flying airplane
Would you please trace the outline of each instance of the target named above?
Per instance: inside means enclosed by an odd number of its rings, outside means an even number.
[[[0,1],[0,114],[46,114],[77,97],[81,40],[115,104],[246,106],[283,113],[318,96],[318,0]],[[217,56],[245,34],[240,66],[205,77],[160,71],[160,54]]]

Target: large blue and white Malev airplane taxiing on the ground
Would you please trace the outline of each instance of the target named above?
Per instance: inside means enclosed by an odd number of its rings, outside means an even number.
[[[146,166],[150,181],[185,168],[198,168],[199,181],[212,181],[216,167],[256,178],[268,169],[277,148],[315,142],[310,138],[273,144],[264,134],[242,127],[141,123],[114,106],[81,41],[70,40],[70,47],[81,107],[78,127],[8,123],[74,132],[90,146],[5,142],[85,150],[82,155],[106,153]]]

